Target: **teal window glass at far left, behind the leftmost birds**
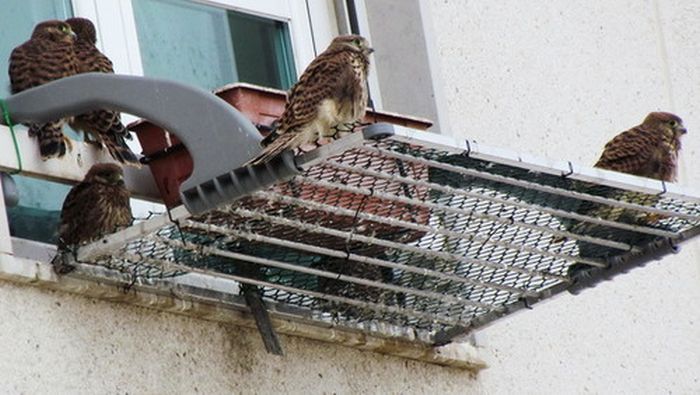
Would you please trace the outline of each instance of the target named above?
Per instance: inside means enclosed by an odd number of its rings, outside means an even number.
[[[69,0],[4,0],[0,12],[3,27],[0,40],[0,95],[10,94],[7,75],[10,52],[29,39],[34,26],[47,19],[66,19],[72,15]],[[26,128],[17,127],[19,133]],[[13,176],[20,193],[16,207],[8,208],[13,236],[53,243],[56,238],[63,199],[70,187],[29,177]]]

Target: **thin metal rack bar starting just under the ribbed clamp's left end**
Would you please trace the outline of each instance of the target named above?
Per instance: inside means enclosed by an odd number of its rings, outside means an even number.
[[[431,270],[431,269],[426,269],[426,268],[419,268],[416,266],[410,266],[410,265],[404,265],[401,263],[394,263],[394,262],[389,262],[377,258],[370,258],[366,257],[363,255],[357,255],[353,253],[348,253],[345,251],[337,251],[333,250],[330,248],[325,248],[325,247],[319,247],[319,246],[314,246],[314,245],[309,245],[309,244],[303,244],[303,243],[297,243],[294,241],[289,241],[289,240],[283,240],[283,239],[278,239],[274,237],[269,237],[269,236],[262,236],[256,233],[249,233],[249,232],[241,232],[229,228],[225,228],[222,226],[217,226],[217,225],[210,225],[210,224],[202,224],[199,222],[194,222],[194,221],[187,221],[184,224],[185,227],[191,227],[194,229],[199,229],[203,231],[209,231],[209,232],[214,232],[222,235],[229,236],[230,238],[244,238],[248,241],[257,241],[257,242],[263,242],[267,244],[273,244],[276,246],[280,247],[285,247],[285,248],[291,248],[291,249],[296,249],[300,251],[306,251],[314,254],[321,254],[321,255],[326,255],[326,256],[331,256],[335,258],[347,258],[348,260],[354,261],[354,262],[360,262],[360,263],[366,263],[366,264],[371,264],[375,266],[381,266],[381,267],[386,267],[390,269],[397,269],[397,270],[402,270],[410,273],[415,273],[415,274],[420,274],[424,276],[431,276],[435,277],[441,280],[448,280],[448,281],[454,281],[462,284],[467,284],[471,286],[477,286],[477,287],[482,287],[482,288],[491,288],[491,289],[496,289],[499,291],[506,291],[510,292],[513,294],[523,294],[523,295],[534,295],[535,293],[532,291],[529,291],[527,289],[521,289],[517,287],[509,287],[505,285],[499,285],[499,284],[494,284],[490,283],[488,281],[474,281],[470,280],[465,277],[461,277],[455,274],[448,274],[448,273],[443,273],[437,270]]]

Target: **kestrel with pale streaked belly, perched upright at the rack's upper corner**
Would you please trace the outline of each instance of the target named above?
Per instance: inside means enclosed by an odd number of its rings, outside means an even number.
[[[247,164],[269,161],[285,150],[335,135],[333,128],[354,125],[367,107],[369,55],[362,36],[338,36],[304,70],[287,96],[277,129],[262,142],[263,151]]]

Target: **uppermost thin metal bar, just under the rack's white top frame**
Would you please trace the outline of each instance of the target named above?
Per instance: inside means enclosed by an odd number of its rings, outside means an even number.
[[[422,164],[422,165],[427,165],[427,166],[435,167],[438,169],[467,175],[470,177],[483,178],[483,179],[489,180],[489,181],[500,182],[500,183],[508,184],[508,185],[514,185],[514,186],[521,187],[521,188],[533,189],[536,191],[550,193],[550,194],[554,194],[554,195],[572,197],[572,198],[576,198],[579,200],[586,200],[586,201],[590,201],[590,202],[594,202],[594,203],[606,204],[608,206],[643,211],[643,212],[652,213],[652,214],[659,214],[659,215],[667,216],[667,217],[677,217],[677,218],[682,218],[682,219],[685,219],[688,221],[696,221],[696,222],[700,221],[700,216],[697,216],[697,215],[683,214],[683,213],[678,213],[675,211],[669,211],[669,210],[659,209],[659,208],[650,207],[650,206],[643,206],[643,205],[635,204],[635,203],[622,202],[619,200],[604,198],[601,196],[589,195],[589,194],[582,193],[582,192],[568,191],[565,189],[560,189],[560,188],[556,188],[556,187],[552,187],[552,186],[548,186],[548,185],[541,185],[541,184],[537,184],[537,183],[529,182],[529,181],[518,180],[515,178],[505,177],[505,176],[501,176],[501,175],[497,175],[497,174],[489,174],[489,173],[484,173],[484,172],[481,172],[478,170],[466,169],[464,167],[454,166],[454,165],[450,165],[448,163],[437,162],[437,161],[430,160],[430,159],[418,158],[418,157],[415,157],[412,155],[401,154],[401,153],[387,150],[384,148],[378,148],[378,147],[372,147],[372,146],[365,145],[361,149],[364,151],[369,151],[369,152],[373,152],[376,154],[381,154],[381,155],[388,156],[391,158],[396,158],[396,159],[401,159],[401,160],[405,160],[408,162],[414,162],[414,163],[418,163],[418,164]]]

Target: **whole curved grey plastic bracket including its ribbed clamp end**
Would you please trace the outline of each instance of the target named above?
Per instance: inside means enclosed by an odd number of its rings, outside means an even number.
[[[107,108],[148,119],[175,134],[194,162],[192,175],[180,185],[180,198],[195,215],[288,180],[304,168],[291,151],[268,163],[240,168],[261,150],[258,130],[214,94],[175,81],[86,73],[20,92],[6,104],[16,123],[48,122]],[[349,140],[358,144],[358,137],[392,134],[392,125],[374,124]],[[336,151],[349,147],[348,141],[337,143],[332,144]],[[334,152],[317,151],[317,160]]]

